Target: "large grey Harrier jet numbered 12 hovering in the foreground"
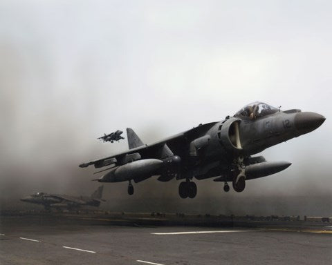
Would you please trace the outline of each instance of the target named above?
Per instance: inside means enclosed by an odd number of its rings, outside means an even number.
[[[232,181],[235,191],[241,192],[246,181],[266,177],[282,171],[291,163],[268,162],[264,157],[252,156],[299,135],[310,133],[325,118],[315,112],[293,109],[282,111],[262,102],[245,106],[233,117],[222,121],[200,124],[173,137],[143,144],[136,133],[127,128],[129,150],[110,157],[81,164],[84,168],[110,166],[102,170],[100,182],[128,181],[128,193],[133,194],[131,181],[138,183],[151,176],[158,181],[176,177],[180,197],[194,198],[197,193],[193,179],[214,177],[222,181],[225,192]],[[100,171],[100,172],[102,172]]]

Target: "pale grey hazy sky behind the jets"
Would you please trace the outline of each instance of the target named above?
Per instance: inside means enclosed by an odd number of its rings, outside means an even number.
[[[155,141],[258,100],[327,119],[264,151],[291,168],[229,196],[330,194],[331,8],[331,1],[1,1],[0,192],[89,194],[93,171],[77,164],[127,148],[95,140],[102,133],[131,127]],[[139,185],[165,189],[154,182]],[[225,197],[222,186],[201,182],[201,194]],[[126,186],[107,185],[109,198],[127,197]],[[165,197],[177,196],[175,184],[170,189]]]

